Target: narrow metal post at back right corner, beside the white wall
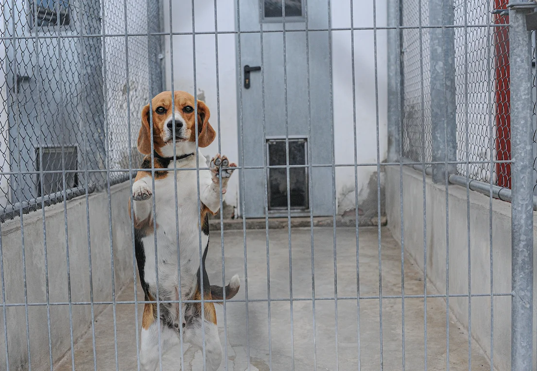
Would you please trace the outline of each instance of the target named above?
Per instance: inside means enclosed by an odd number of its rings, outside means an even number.
[[[388,27],[401,25],[402,0],[388,0]],[[401,30],[388,30],[388,161],[399,161],[401,140]]]

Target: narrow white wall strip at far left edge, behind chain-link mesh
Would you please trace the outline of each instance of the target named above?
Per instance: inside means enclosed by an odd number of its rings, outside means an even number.
[[[3,4],[4,2],[0,2]],[[1,8],[4,10],[3,5]],[[4,18],[4,12],[0,13],[0,35],[4,35],[6,19]],[[10,171],[9,166],[9,141],[8,141],[8,92],[6,84],[6,42],[7,40],[0,40],[0,208],[4,208],[8,205],[9,194],[9,176],[3,174]]]

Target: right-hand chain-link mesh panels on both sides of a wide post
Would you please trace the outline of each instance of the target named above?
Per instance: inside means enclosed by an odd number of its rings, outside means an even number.
[[[429,1],[403,0],[403,156],[431,162]],[[456,161],[461,176],[510,187],[509,17],[507,0],[454,1]],[[468,164],[467,164],[468,163]]]

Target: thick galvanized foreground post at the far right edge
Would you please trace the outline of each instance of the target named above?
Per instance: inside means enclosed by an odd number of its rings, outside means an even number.
[[[533,370],[532,42],[525,14],[534,2],[511,2],[511,369]]]

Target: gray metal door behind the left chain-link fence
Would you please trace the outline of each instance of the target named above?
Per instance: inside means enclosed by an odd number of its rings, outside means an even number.
[[[63,190],[59,171],[78,168],[77,39],[63,38],[77,33],[71,8],[66,0],[15,0],[3,9],[10,20],[5,68],[12,203]],[[56,173],[41,178],[39,170]],[[66,173],[67,188],[77,183],[76,173]]]

